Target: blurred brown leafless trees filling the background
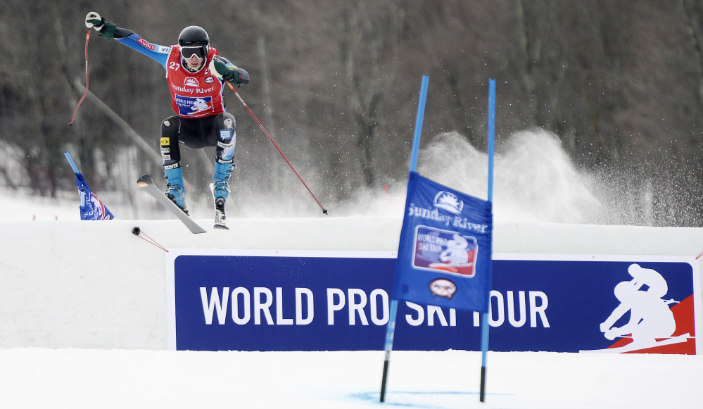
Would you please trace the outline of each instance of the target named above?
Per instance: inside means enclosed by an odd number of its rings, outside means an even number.
[[[696,191],[703,180],[702,0],[6,0],[0,148],[11,160],[0,171],[8,187],[43,196],[72,189],[67,149],[94,189],[120,189],[117,158],[135,146],[139,171],[160,175],[153,151],[134,138],[158,149],[160,121],[172,115],[163,68],[96,32],[91,98],[68,127],[85,84],[88,11],[162,45],[187,25],[204,27],[220,54],[248,70],[251,83],[238,92],[329,201],[403,182],[422,75],[430,77],[429,137],[456,130],[485,149],[495,78],[498,149],[509,134],[540,127],[585,168],[682,175]],[[234,94],[226,99],[237,119],[239,194],[293,189],[258,125]],[[213,158],[184,152],[195,191],[206,191]]]

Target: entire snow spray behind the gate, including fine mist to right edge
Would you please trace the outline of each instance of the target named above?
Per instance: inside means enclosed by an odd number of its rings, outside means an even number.
[[[486,196],[486,153],[458,132],[438,134],[419,154],[419,172],[479,198]],[[559,138],[541,129],[516,132],[495,156],[493,213],[498,222],[690,226],[686,193],[692,170],[654,165],[578,168]],[[688,198],[688,199],[686,199]],[[691,199],[691,200],[689,200]],[[696,204],[696,203],[694,203]]]

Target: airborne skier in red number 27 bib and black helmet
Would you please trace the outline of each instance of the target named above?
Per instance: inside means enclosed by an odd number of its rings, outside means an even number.
[[[216,146],[215,227],[227,229],[224,203],[229,196],[229,177],[234,169],[236,121],[234,115],[224,109],[224,82],[244,85],[249,82],[249,74],[220,56],[217,49],[210,46],[210,37],[202,27],[185,27],[178,36],[178,44],[160,46],[147,42],[131,30],[108,23],[94,11],[86,15],[85,25],[100,32],[105,39],[114,38],[163,65],[171,105],[177,114],[161,122],[165,195],[187,214],[179,143],[191,149]]]

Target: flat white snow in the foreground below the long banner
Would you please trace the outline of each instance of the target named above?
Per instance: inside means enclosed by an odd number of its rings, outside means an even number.
[[[0,349],[3,408],[700,408],[700,355]]]

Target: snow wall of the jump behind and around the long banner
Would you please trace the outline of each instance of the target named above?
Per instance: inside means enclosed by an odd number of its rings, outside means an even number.
[[[401,222],[239,219],[207,234],[177,220],[0,222],[0,347],[167,348],[166,252],[147,237],[165,248],[394,252]],[[695,258],[703,229],[502,222],[493,251]]]

